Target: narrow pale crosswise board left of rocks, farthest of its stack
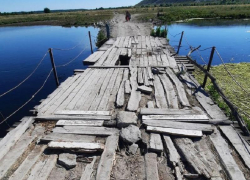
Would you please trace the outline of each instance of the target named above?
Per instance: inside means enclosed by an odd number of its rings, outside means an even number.
[[[75,110],[60,110],[54,113],[55,115],[93,115],[93,116],[110,116],[109,111],[75,111]]]

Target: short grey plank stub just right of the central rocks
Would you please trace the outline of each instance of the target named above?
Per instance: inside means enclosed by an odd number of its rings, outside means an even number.
[[[163,151],[160,134],[150,133],[149,150],[156,153],[161,153]]]

